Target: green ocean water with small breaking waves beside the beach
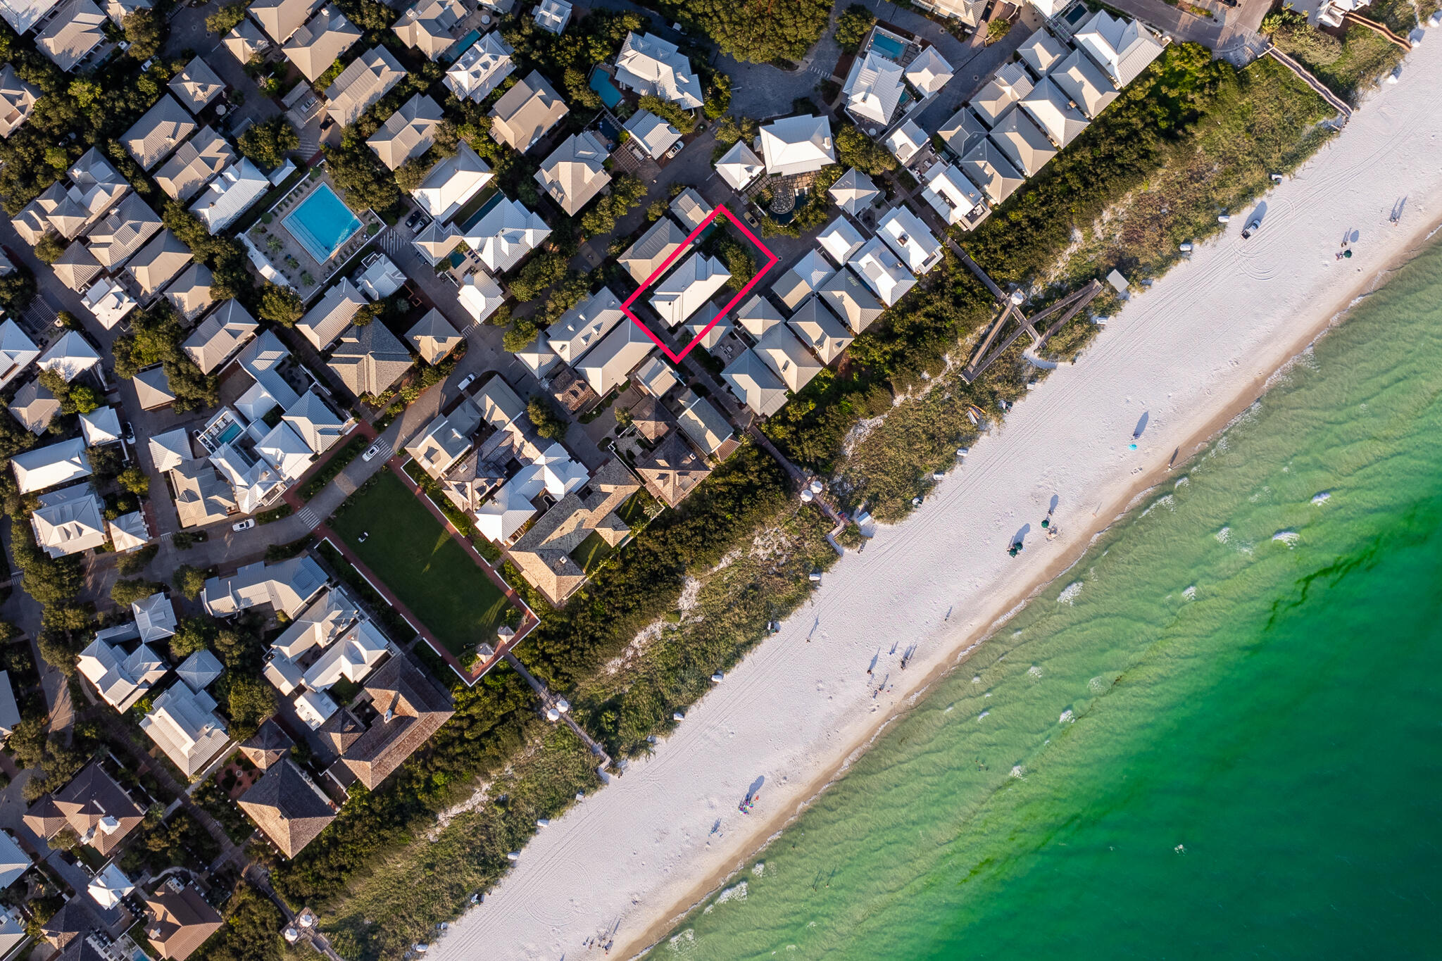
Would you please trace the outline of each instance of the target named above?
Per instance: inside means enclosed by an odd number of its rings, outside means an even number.
[[[653,957],[1442,957],[1442,248]]]

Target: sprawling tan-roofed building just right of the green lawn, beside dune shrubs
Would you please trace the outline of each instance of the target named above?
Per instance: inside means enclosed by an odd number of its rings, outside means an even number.
[[[591,536],[619,547],[630,536],[630,527],[616,510],[637,490],[640,484],[630,470],[616,458],[609,460],[590,483],[542,514],[506,556],[552,604],[565,602],[585,584],[585,572],[571,553]]]

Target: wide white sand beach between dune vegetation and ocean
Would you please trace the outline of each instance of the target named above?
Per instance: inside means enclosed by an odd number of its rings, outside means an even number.
[[[1432,33],[1400,84],[1377,91],[1265,197],[1256,236],[1242,239],[1250,212],[1237,212],[1226,235],[1135,295],[1079,363],[1018,403],[911,519],[848,552],[813,601],[650,759],[545,827],[427,957],[598,958],[583,942],[604,931],[614,931],[610,957],[642,951],[748,863],[916,689],[1165,477],[1175,450],[1185,458],[1256,399],[1442,215],[1442,32]],[[1393,225],[1402,197],[1405,216]],[[1360,233],[1354,255],[1337,261],[1348,229]],[[1053,497],[1061,536],[1048,542],[1040,522]],[[1012,559],[1007,546],[1024,529],[1025,550]],[[875,679],[893,684],[877,700],[867,676],[874,657]],[[753,813],[740,813],[761,778]]]

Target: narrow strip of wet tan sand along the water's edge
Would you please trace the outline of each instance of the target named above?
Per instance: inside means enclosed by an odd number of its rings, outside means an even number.
[[[787,827],[796,823],[808,811],[808,808],[810,808],[810,805],[815,801],[818,801],[828,790],[831,790],[833,784],[838,784],[844,777],[846,777],[846,774],[851,771],[851,766],[858,759],[861,759],[861,756],[867,751],[870,751],[871,746],[875,745],[875,742],[887,733],[887,730],[890,730],[894,722],[908,715],[911,709],[921,699],[930,696],[930,692],[934,686],[942,683],[947,676],[950,676],[953,671],[959,670],[963,664],[966,664],[968,660],[970,660],[970,656],[979,651],[983,644],[986,644],[992,637],[995,637],[996,631],[1005,627],[1007,622],[1009,622],[1011,618],[1021,611],[1021,608],[1031,604],[1035,598],[1044,594],[1048,586],[1051,586],[1058,578],[1061,578],[1061,575],[1074,568],[1086,556],[1087,550],[1090,550],[1096,545],[1099,539],[1102,539],[1109,530],[1112,530],[1112,527],[1115,527],[1118,522],[1125,520],[1128,516],[1131,516],[1131,513],[1139,506],[1139,501],[1142,501],[1148,493],[1155,490],[1168,477],[1174,475],[1180,477],[1181,474],[1185,474],[1187,465],[1198,454],[1201,454],[1221,432],[1224,432],[1229,426],[1231,426],[1231,424],[1234,424],[1242,415],[1244,415],[1249,409],[1252,409],[1252,406],[1257,401],[1266,396],[1266,393],[1272,389],[1272,385],[1276,382],[1276,379],[1285,375],[1318,340],[1325,337],[1340,324],[1347,323],[1353,310],[1360,303],[1363,303],[1373,292],[1381,290],[1390,281],[1393,274],[1396,274],[1400,268],[1412,262],[1412,259],[1416,258],[1426,248],[1429,239],[1438,231],[1442,231],[1442,215],[1439,215],[1428,226],[1416,231],[1409,241],[1409,246],[1405,251],[1396,254],[1387,267],[1377,271],[1370,280],[1360,281],[1357,287],[1353,288],[1348,297],[1338,301],[1338,305],[1334,308],[1334,311],[1327,320],[1317,324],[1311,330],[1311,333],[1298,337],[1293,341],[1292,353],[1275,370],[1272,370],[1272,373],[1266,375],[1265,377],[1256,379],[1260,383],[1257,385],[1255,392],[1247,390],[1237,393],[1237,396],[1231,401],[1231,403],[1227,405],[1224,411],[1211,418],[1211,421],[1208,421],[1206,426],[1201,426],[1197,431],[1194,431],[1193,435],[1178,447],[1178,450],[1182,452],[1178,454],[1177,461],[1171,468],[1164,465],[1148,471],[1146,478],[1136,481],[1136,484],[1133,484],[1133,487],[1131,488],[1129,494],[1118,497],[1120,506],[1113,504],[1115,509],[1109,507],[1107,511],[1105,511],[1110,514],[1110,520],[1087,529],[1084,539],[1077,539],[1077,543],[1071,545],[1060,558],[1057,558],[1053,563],[1047,565],[1045,569],[1038,572],[1027,588],[1015,592],[1011,596],[1011,599],[1005,602],[1007,608],[1005,614],[998,617],[985,628],[979,628],[976,631],[970,631],[966,635],[963,635],[962,645],[953,648],[955,660],[952,660],[950,663],[942,661],[934,664],[914,689],[907,689],[904,700],[893,706],[893,709],[887,712],[885,718],[883,718],[877,723],[875,729],[870,735],[854,743],[851,749],[835,762],[833,766],[831,766],[828,771],[813,778],[806,788],[802,788],[802,791],[806,792],[806,797],[803,801],[797,804],[796,810],[790,813],[780,811],[774,814],[769,821],[763,823],[760,827],[757,827],[756,831],[751,833],[751,836],[757,840],[754,841],[754,846],[748,847],[741,854],[738,863],[733,864],[731,867],[712,872],[708,877],[695,882],[688,893],[676,896],[673,902],[675,909],[672,915],[668,919],[658,921],[649,929],[640,932],[637,937],[630,938],[626,942],[622,942],[619,945],[620,947],[619,955],[624,958],[646,957],[653,948],[659,947],[660,942],[665,939],[665,935],[669,934],[678,924],[681,924],[691,912],[694,912],[696,908],[701,908],[707,902],[707,899],[709,899],[712,895],[727,888],[734,879],[737,879],[738,875],[741,875],[741,872],[744,872],[746,867],[751,862],[754,862],[758,854],[761,854],[763,852],[766,852],[766,849],[771,846],[771,841],[777,840]],[[1442,243],[1442,241],[1436,242]],[[1099,511],[1099,516],[1100,513],[1103,511]],[[903,520],[901,524],[906,524],[910,516],[907,517],[907,520]]]

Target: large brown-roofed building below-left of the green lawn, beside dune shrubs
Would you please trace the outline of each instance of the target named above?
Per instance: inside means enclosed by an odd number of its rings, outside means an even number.
[[[404,656],[391,657],[371,674],[365,693],[376,712],[369,726],[342,710],[322,730],[342,735],[346,746],[337,764],[373,791],[430,741],[454,709],[450,697]]]

